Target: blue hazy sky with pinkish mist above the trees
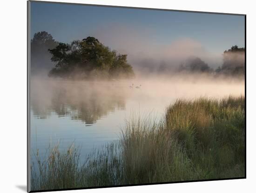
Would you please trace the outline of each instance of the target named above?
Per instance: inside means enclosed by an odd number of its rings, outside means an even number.
[[[180,49],[213,58],[232,45],[244,47],[244,16],[237,15],[32,2],[31,36],[39,31],[60,42],[94,36],[131,55],[176,56]]]

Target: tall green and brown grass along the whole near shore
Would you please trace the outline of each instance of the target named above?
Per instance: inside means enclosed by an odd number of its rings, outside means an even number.
[[[245,99],[177,100],[162,120],[134,116],[117,143],[81,160],[50,149],[32,166],[32,190],[114,186],[245,175]]]

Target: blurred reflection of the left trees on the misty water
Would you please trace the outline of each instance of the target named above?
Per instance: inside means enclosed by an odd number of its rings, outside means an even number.
[[[52,113],[81,120],[87,126],[115,110],[125,110],[130,91],[113,82],[32,81],[34,117],[47,119]]]

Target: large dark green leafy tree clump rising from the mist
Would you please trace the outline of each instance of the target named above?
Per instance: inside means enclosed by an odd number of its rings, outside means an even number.
[[[55,67],[50,77],[72,79],[114,79],[134,77],[127,55],[104,46],[98,39],[87,37],[70,44],[59,43],[49,49]]]

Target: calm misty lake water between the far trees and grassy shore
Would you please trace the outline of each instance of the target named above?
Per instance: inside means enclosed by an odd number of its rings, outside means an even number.
[[[134,83],[134,88],[130,88]],[[135,88],[141,84],[141,89]],[[131,80],[86,82],[31,79],[31,150],[81,146],[81,157],[118,140],[136,113],[160,119],[176,99],[244,95],[243,81]],[[33,155],[33,154],[32,154]],[[34,156],[31,156],[32,161]]]

